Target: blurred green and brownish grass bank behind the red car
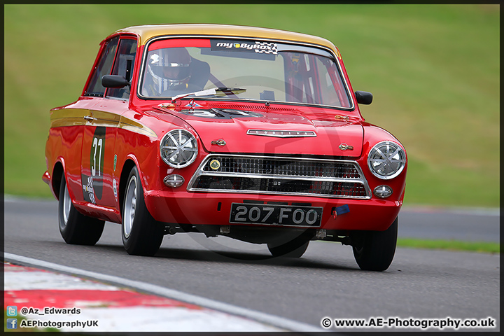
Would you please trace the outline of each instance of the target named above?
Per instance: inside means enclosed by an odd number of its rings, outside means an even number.
[[[41,181],[49,110],[74,102],[116,29],[225,23],[300,31],[342,52],[366,120],[407,149],[405,204],[498,207],[498,5],[5,5],[5,193]]]

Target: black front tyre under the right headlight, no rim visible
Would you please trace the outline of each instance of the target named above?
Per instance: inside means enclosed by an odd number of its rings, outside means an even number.
[[[398,218],[385,231],[351,235],[353,256],[360,269],[384,271],[391,265],[397,244]]]

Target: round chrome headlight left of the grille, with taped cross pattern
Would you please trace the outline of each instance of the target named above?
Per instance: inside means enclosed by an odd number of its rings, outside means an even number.
[[[171,130],[161,139],[160,153],[167,165],[174,168],[187,167],[196,160],[196,138],[186,130]]]

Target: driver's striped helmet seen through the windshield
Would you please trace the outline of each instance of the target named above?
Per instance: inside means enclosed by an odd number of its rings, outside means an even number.
[[[189,82],[191,59],[186,48],[158,49],[150,54],[148,71],[153,76],[159,93]]]

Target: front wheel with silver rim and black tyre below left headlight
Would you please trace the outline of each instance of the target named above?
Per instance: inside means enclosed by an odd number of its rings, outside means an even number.
[[[132,255],[155,255],[165,229],[148,212],[137,167],[128,176],[123,203],[123,245]]]

